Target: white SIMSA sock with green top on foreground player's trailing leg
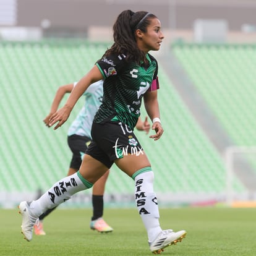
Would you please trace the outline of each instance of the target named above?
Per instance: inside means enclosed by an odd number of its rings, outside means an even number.
[[[56,182],[53,187],[38,198],[38,200],[30,203],[30,210],[33,215],[40,216],[46,210],[58,207],[59,204],[69,200],[75,193],[89,189],[92,185],[93,184],[86,181],[78,171]]]

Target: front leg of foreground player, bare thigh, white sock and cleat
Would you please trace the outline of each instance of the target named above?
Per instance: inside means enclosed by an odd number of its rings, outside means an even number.
[[[147,229],[148,244],[154,254],[160,254],[165,247],[181,242],[186,231],[162,230],[159,223],[159,210],[153,190],[154,174],[145,155],[127,155],[115,161],[117,166],[135,181],[135,202]],[[132,166],[129,163],[133,163]]]

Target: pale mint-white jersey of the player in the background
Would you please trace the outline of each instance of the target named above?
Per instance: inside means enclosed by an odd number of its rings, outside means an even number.
[[[74,87],[76,84],[77,83],[74,83]],[[70,136],[76,134],[91,138],[93,117],[102,103],[103,80],[92,83],[92,85],[90,85],[83,93],[83,96],[85,96],[85,104],[69,127],[67,135]]]

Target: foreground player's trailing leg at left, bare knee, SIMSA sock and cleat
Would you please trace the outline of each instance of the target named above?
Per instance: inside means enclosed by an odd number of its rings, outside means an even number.
[[[27,241],[32,239],[33,225],[42,213],[69,200],[75,193],[92,187],[93,183],[108,171],[105,164],[102,164],[91,156],[85,155],[83,158],[84,161],[87,163],[82,163],[80,171],[56,182],[38,200],[31,203],[25,201],[20,203],[19,208],[23,218],[22,233]]]

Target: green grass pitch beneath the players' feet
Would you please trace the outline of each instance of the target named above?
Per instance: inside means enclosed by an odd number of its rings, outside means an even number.
[[[17,210],[0,210],[0,255],[100,255],[142,256],[151,254],[147,234],[137,210],[105,209],[113,233],[89,228],[91,209],[57,209],[45,219],[46,236],[25,241]],[[186,229],[187,237],[164,249],[161,255],[229,256],[256,255],[255,208],[160,208],[163,229]]]

